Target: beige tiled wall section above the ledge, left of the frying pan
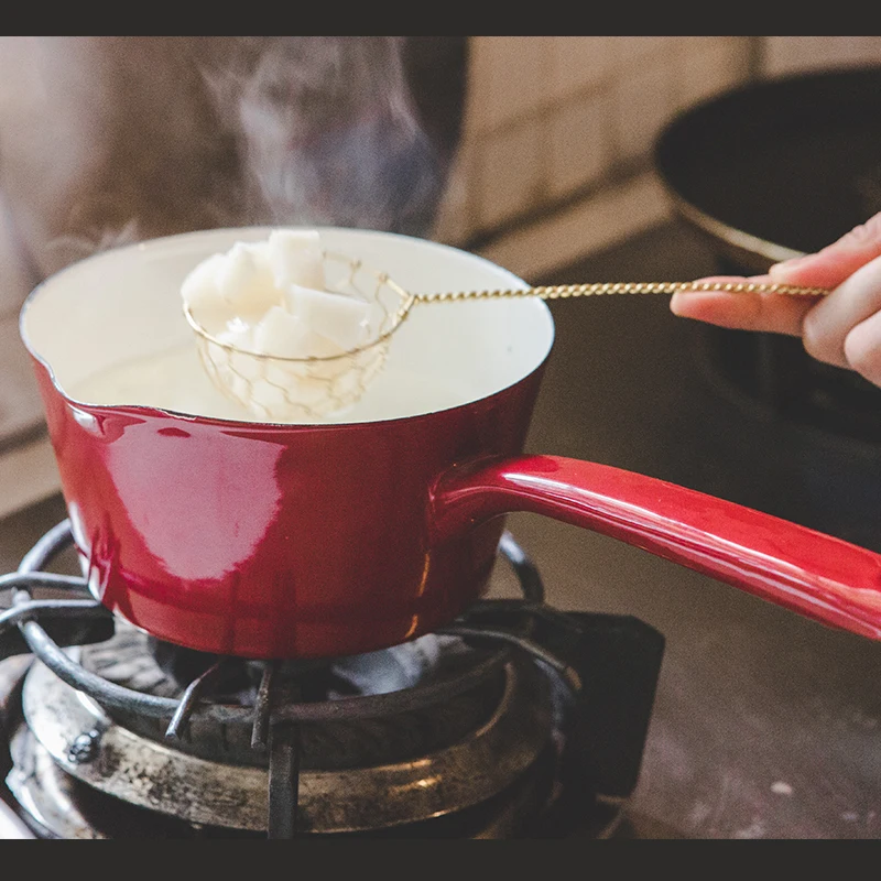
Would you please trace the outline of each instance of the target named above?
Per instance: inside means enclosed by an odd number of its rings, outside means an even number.
[[[741,81],[749,37],[476,36],[436,235],[463,242],[629,164],[679,108]]]

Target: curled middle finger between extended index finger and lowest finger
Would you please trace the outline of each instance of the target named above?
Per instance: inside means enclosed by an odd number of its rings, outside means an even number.
[[[804,346],[808,355],[819,361],[837,367],[849,367],[858,372],[863,369],[873,370],[873,362],[858,367],[851,360],[846,340],[848,336],[867,319],[881,311],[881,258],[875,258],[860,267],[853,274],[839,284],[831,294],[818,303],[805,315],[802,327]],[[878,329],[878,325],[869,327]],[[857,336],[860,361],[873,356],[867,355],[868,341],[863,340],[863,329]]]

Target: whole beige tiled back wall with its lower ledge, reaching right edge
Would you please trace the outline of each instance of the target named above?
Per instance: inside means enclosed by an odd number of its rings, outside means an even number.
[[[610,216],[627,236],[665,215],[650,151],[677,111],[751,76],[881,64],[881,36],[476,36],[470,51],[435,236],[489,240],[481,252],[529,275],[611,243]],[[619,204],[639,210],[619,218]]]

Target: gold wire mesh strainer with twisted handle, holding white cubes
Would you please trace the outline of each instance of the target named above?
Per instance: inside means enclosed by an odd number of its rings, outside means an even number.
[[[823,287],[758,282],[597,282],[522,290],[455,291],[414,294],[388,273],[361,260],[322,251],[327,290],[369,304],[369,341],[340,355],[281,358],[249,351],[213,336],[184,304],[184,315],[196,334],[202,363],[214,384],[253,415],[272,422],[322,420],[357,403],[385,362],[392,334],[417,303],[464,300],[568,297],[603,294],[675,294],[677,291],[726,291],[805,296],[828,294]]]

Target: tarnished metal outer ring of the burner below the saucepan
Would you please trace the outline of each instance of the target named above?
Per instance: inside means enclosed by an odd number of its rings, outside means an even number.
[[[501,693],[481,687],[468,701],[442,704],[434,714],[303,726],[300,830],[384,828],[461,811],[503,791],[548,744],[552,709],[541,679],[533,664],[519,659],[498,683]],[[491,696],[494,700],[489,703]],[[267,829],[269,755],[262,757],[260,765],[243,765],[198,758],[195,750],[168,750],[157,739],[140,737],[115,722],[98,704],[84,700],[42,664],[35,664],[25,678],[22,705],[29,733],[20,731],[18,741],[13,740],[17,765],[22,764],[26,749],[21,740],[32,732],[68,774],[129,804],[191,823]],[[440,746],[433,731],[426,738],[432,746],[415,751],[421,738],[414,728],[431,729],[438,716],[453,718],[455,707],[480,720],[470,733],[453,728],[453,737]],[[438,729],[444,730],[444,725]],[[90,749],[72,749],[78,741]],[[389,742],[404,748],[396,761],[391,759],[394,749]],[[349,748],[362,763],[356,764]],[[319,763],[327,757],[330,764]],[[333,768],[335,759],[344,760],[338,763],[341,766]],[[26,785],[22,774],[10,780],[20,800]]]

